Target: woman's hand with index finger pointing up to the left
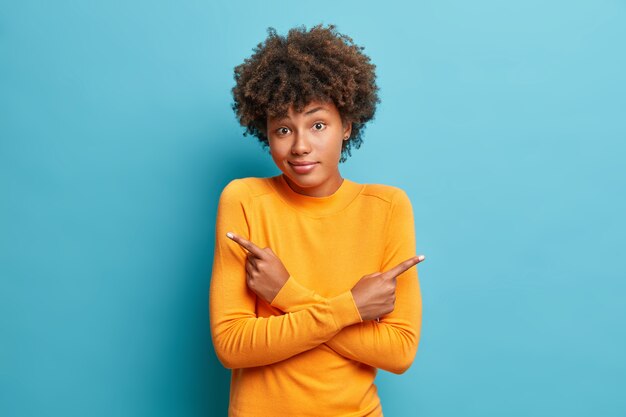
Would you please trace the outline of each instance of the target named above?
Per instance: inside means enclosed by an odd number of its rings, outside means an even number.
[[[259,248],[254,243],[232,232],[226,233],[248,251],[246,283],[256,295],[271,303],[289,279],[289,272],[270,248]]]

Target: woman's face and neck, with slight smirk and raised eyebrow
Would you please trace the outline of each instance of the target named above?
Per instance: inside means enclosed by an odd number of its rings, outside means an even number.
[[[294,191],[312,197],[331,195],[341,185],[341,145],[351,130],[332,101],[313,101],[301,113],[292,106],[284,118],[267,120],[274,163]]]

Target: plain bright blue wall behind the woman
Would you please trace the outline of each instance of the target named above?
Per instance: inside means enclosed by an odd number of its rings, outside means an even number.
[[[230,108],[268,26],[335,23],[382,103],[341,166],[415,212],[385,415],[626,415],[624,1],[2,1],[0,415],[221,416],[217,199],[278,173]]]

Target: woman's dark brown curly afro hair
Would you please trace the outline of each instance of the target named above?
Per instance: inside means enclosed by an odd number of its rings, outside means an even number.
[[[365,124],[380,103],[376,66],[332,24],[309,31],[295,27],[287,36],[272,27],[267,32],[252,56],[235,67],[232,109],[246,128],[244,136],[256,136],[268,148],[268,117],[285,116],[292,105],[301,112],[311,101],[332,101],[344,123],[352,122],[350,139],[342,143],[340,162],[345,162],[350,149],[363,143]]]

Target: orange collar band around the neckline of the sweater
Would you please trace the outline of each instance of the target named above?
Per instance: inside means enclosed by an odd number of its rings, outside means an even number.
[[[285,203],[312,217],[324,217],[343,210],[354,201],[364,187],[363,184],[344,178],[333,194],[326,197],[311,197],[292,190],[284,174],[271,177],[269,180]]]

